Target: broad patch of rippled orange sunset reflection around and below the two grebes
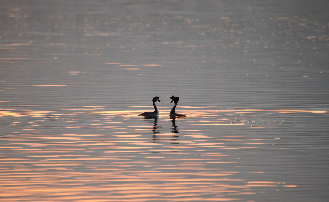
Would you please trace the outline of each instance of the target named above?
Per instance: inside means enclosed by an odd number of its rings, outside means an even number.
[[[285,127],[243,117],[250,113],[328,113],[185,106],[180,111],[187,117],[173,120],[167,107],[159,107],[159,119],[145,119],[137,114],[149,106],[118,111],[99,105],[62,106],[57,111],[42,111],[43,105],[17,106],[39,110],[0,110],[6,118],[3,123],[14,128],[0,134],[0,196],[8,201],[36,197],[88,202],[239,201],[265,188],[293,189],[297,186],[292,183],[237,177],[237,168],[244,164],[236,155],[262,153],[267,145],[260,136],[262,128]],[[251,132],[218,130],[209,135],[200,127],[243,127]]]

